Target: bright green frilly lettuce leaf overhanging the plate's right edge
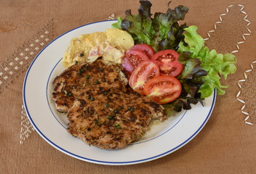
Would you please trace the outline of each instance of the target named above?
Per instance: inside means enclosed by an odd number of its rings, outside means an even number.
[[[196,33],[196,26],[192,25],[184,30],[186,31],[183,34],[185,43],[180,42],[178,52],[180,54],[189,52],[191,59],[199,59],[201,69],[207,71],[207,75],[201,77],[204,80],[204,84],[199,88],[201,98],[211,96],[215,88],[217,88],[217,94],[225,94],[223,88],[228,88],[228,86],[220,83],[220,76],[226,79],[229,74],[236,72],[234,65],[236,57],[229,53],[217,54],[215,49],[210,51],[207,46],[204,46],[204,39]],[[188,59],[185,66],[190,62],[191,60]]]

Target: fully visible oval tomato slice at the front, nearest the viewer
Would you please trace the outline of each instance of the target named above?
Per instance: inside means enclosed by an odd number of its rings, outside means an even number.
[[[182,86],[177,78],[160,75],[145,83],[144,93],[158,104],[166,104],[180,96]]]

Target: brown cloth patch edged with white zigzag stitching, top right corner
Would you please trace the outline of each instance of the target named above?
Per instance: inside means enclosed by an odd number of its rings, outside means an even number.
[[[246,37],[252,33],[249,29],[250,24],[248,14],[244,11],[242,4],[229,5],[225,12],[218,17],[214,28],[207,32],[208,37],[204,40],[207,41],[208,46],[216,49],[217,52],[235,54],[239,52],[239,45],[244,43]]]

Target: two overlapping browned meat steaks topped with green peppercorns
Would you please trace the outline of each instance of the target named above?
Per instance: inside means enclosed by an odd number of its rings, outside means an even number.
[[[157,65],[156,65],[157,66]],[[163,107],[127,86],[118,65],[102,59],[72,65],[53,81],[52,99],[68,114],[68,132],[102,149],[119,149],[143,136]]]

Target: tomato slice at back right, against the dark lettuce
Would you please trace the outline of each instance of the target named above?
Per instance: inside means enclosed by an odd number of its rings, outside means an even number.
[[[153,55],[152,60],[156,61],[160,68],[161,75],[171,75],[177,77],[183,71],[183,64],[177,61],[179,54],[166,49]]]

